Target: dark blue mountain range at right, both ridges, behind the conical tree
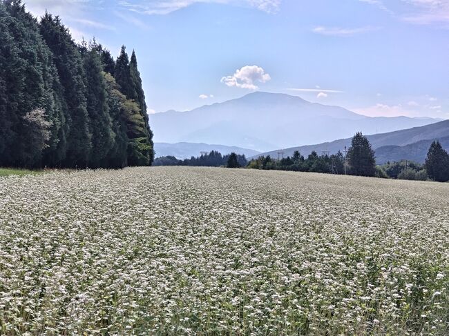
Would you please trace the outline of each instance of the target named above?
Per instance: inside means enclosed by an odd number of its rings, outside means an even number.
[[[449,120],[406,130],[367,135],[367,138],[370,140],[372,148],[376,150],[377,164],[383,164],[386,161],[399,161],[401,159],[422,163],[426,159],[429,146],[434,139],[439,139],[441,145],[449,150]],[[323,144],[286,148],[283,152],[285,157],[292,156],[295,150],[298,150],[305,156],[309,155],[312,150],[315,150],[318,155],[321,155],[321,152],[333,154],[338,150],[343,152],[345,146],[347,148],[351,146],[351,138],[339,139]],[[271,155],[271,157],[277,158],[278,150],[265,152],[260,155]]]

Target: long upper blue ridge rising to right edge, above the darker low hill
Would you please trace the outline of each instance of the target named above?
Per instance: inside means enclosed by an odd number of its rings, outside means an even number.
[[[430,125],[408,128],[405,130],[397,130],[394,132],[376,134],[376,135],[367,135],[368,140],[370,140],[372,144],[372,148],[376,150],[377,148],[382,148],[385,146],[407,146],[409,144],[418,143],[422,140],[428,140],[430,143],[433,139],[442,139],[449,136],[449,120],[439,121],[437,123],[431,123]],[[295,150],[298,150],[302,155],[309,155],[312,150],[315,150],[318,155],[321,152],[329,152],[335,153],[338,150],[345,150],[345,146],[349,148],[351,146],[351,138],[339,139],[332,142],[325,142],[323,144],[309,145],[309,146],[299,146],[284,149],[284,156],[292,156]],[[430,144],[429,144],[430,146]],[[410,147],[415,148],[415,147]],[[407,148],[405,148],[406,150]],[[428,148],[427,148],[428,149]],[[388,151],[388,150],[385,150]],[[399,152],[398,152],[399,154]],[[427,150],[426,150],[427,154]],[[265,152],[260,155],[271,155],[271,157],[278,157],[278,150],[274,150],[271,152]],[[402,159],[401,155],[399,155],[399,159]],[[380,158],[380,157],[379,157]],[[403,159],[407,159],[407,157],[403,157]],[[388,160],[387,160],[388,161]],[[378,163],[381,163],[379,160]]]

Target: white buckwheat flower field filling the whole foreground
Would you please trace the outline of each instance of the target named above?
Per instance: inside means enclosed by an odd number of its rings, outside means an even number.
[[[1,335],[448,335],[449,184],[0,177]]]

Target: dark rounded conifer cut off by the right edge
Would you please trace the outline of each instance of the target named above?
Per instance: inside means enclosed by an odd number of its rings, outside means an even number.
[[[449,181],[449,154],[443,150],[439,141],[433,141],[430,145],[424,166],[434,181]]]

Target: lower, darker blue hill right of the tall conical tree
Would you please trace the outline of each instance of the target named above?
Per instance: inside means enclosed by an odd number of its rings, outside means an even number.
[[[438,139],[441,146],[449,151],[449,136]],[[421,140],[406,146],[382,146],[376,148],[376,163],[385,164],[388,161],[410,160],[423,164],[427,152],[434,139]]]

